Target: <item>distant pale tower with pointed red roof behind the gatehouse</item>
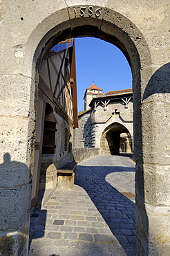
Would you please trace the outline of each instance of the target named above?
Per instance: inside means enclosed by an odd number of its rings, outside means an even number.
[[[91,103],[93,98],[102,95],[102,89],[98,88],[94,83],[88,87],[84,93],[84,110],[89,109],[88,105]]]

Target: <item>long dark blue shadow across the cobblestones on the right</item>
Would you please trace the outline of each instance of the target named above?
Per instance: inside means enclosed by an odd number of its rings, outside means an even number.
[[[132,256],[135,255],[136,233],[134,198],[131,201],[105,181],[113,172],[135,172],[135,168],[78,165],[75,184],[86,190],[126,255]]]

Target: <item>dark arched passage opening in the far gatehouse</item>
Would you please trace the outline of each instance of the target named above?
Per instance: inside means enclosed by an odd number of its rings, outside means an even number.
[[[113,124],[108,125],[101,136],[101,154],[119,155],[121,145],[120,134],[122,133],[127,134],[129,130],[120,123],[113,122]],[[126,152],[125,147],[123,152]]]

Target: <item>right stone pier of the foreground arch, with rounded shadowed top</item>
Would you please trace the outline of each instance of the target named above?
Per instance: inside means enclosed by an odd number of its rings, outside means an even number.
[[[142,98],[142,132],[135,115],[137,255],[170,251],[170,66],[162,66],[147,83]],[[139,123],[138,123],[139,125]]]

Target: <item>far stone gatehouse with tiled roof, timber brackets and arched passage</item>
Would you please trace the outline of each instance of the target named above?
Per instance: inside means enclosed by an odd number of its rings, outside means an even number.
[[[87,95],[86,101],[89,102]],[[97,95],[89,106],[91,109],[79,115],[79,128],[74,129],[73,147],[98,148],[100,154],[132,153],[132,89]]]

